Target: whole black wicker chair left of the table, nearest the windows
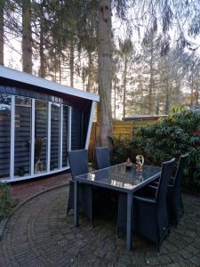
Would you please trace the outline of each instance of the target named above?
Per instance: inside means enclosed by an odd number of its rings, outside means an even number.
[[[68,209],[74,209],[74,177],[89,173],[88,151],[72,150],[68,152],[68,162],[71,169],[72,180],[69,182]],[[79,206],[82,212],[92,221],[92,187],[86,184],[79,185]]]

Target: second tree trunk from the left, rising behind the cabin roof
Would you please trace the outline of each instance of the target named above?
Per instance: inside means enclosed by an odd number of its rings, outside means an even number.
[[[30,0],[22,1],[22,69],[32,73],[32,34]]]

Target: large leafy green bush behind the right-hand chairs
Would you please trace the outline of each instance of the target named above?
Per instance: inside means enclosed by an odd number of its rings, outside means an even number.
[[[130,145],[153,165],[188,152],[183,184],[200,188],[200,113],[174,108],[168,117],[140,128]]]

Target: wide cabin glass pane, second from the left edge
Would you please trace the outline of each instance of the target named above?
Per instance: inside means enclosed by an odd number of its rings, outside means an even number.
[[[30,173],[31,100],[15,97],[14,175]]]

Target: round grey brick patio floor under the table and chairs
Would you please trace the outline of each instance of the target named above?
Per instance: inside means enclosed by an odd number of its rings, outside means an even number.
[[[115,221],[96,218],[92,228],[80,216],[66,216],[68,186],[32,198],[12,215],[0,243],[0,266],[200,266],[200,198],[184,194],[185,211],[177,228],[156,246],[133,237],[133,251],[124,236],[116,238]]]

